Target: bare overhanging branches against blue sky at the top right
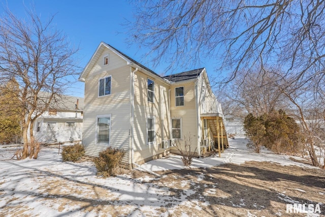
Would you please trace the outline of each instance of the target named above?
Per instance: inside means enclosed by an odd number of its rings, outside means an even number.
[[[281,66],[296,81],[324,75],[325,0],[139,1],[131,42],[155,64],[172,67],[210,58],[228,81],[239,72]]]

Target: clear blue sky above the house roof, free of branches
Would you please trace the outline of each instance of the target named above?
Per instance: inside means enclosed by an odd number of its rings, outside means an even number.
[[[25,17],[25,8],[29,9],[31,5],[34,5],[37,14],[40,15],[42,20],[46,21],[51,15],[55,15],[53,24],[56,25],[56,28],[66,33],[72,43],[79,45],[79,63],[77,65],[82,68],[86,66],[100,42],[104,41],[156,73],[165,73],[164,64],[154,68],[150,64],[149,58],[141,58],[146,50],[139,50],[139,45],[128,47],[126,44],[127,29],[122,24],[126,22],[126,19],[132,22],[133,6],[125,0],[0,0],[0,3],[1,14],[3,14],[4,8],[8,6],[15,15]],[[212,64],[193,67],[206,67],[208,74],[213,72]],[[182,71],[182,69],[179,69],[175,73]],[[166,74],[171,73],[167,72]],[[83,83],[77,82],[73,86],[75,88],[70,89],[66,94],[83,97]]]

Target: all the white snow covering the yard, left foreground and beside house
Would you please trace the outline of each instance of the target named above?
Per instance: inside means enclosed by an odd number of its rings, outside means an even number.
[[[268,150],[259,154],[253,153],[247,150],[246,143],[243,137],[230,140],[230,148],[221,153],[221,158],[217,154],[208,158],[195,158],[191,167],[242,164],[246,161],[270,161],[281,165],[309,167],[289,160],[289,156],[276,155]],[[9,160],[16,149],[16,146],[0,146],[0,216],[106,216],[107,213],[187,216],[186,213],[177,211],[181,207],[194,207],[202,211],[209,206],[208,201],[201,201],[203,195],[200,200],[189,199],[195,196],[195,185],[205,178],[204,173],[194,177],[196,180],[162,183],[162,187],[150,183],[150,180],[158,179],[152,176],[132,178],[119,175],[107,179],[99,178],[95,175],[92,162],[62,162],[61,154],[53,147],[42,147],[37,160]],[[179,156],[171,155],[150,161],[141,168],[158,171],[184,167]],[[186,189],[193,185],[193,188]],[[215,195],[216,190],[208,188],[205,194]],[[291,200],[285,195],[279,197],[286,201]],[[244,205],[243,200],[241,206]]]

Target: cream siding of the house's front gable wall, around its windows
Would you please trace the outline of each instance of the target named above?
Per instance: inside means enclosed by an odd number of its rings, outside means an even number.
[[[103,57],[109,53],[109,64],[103,66]],[[83,144],[86,154],[98,156],[107,146],[95,144],[95,125],[98,115],[111,115],[110,145],[126,150],[129,138],[129,74],[130,67],[118,55],[104,49],[85,81]],[[111,95],[99,97],[99,79],[111,77]]]

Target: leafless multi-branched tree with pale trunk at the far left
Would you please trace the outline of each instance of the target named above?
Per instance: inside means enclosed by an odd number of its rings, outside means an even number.
[[[21,107],[22,159],[37,158],[34,121],[54,108],[70,85],[77,51],[52,24],[53,17],[43,22],[34,10],[26,10],[26,15],[20,19],[7,9],[0,18],[0,79],[16,80],[20,87],[15,98]]]

